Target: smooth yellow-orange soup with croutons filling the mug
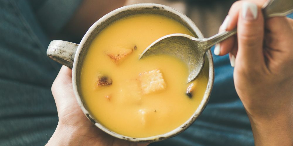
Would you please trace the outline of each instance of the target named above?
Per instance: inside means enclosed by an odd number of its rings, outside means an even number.
[[[93,40],[81,72],[81,92],[93,117],[118,134],[144,138],[172,131],[199,106],[208,65],[186,84],[187,66],[168,55],[139,60],[162,36],[192,35],[179,22],[156,14],[117,20]]]

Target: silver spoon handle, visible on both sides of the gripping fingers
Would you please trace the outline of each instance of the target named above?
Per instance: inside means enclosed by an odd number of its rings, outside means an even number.
[[[275,16],[286,16],[293,12],[293,0],[270,0],[263,5],[263,15],[265,18]],[[218,44],[219,42],[229,38],[237,33],[237,28],[231,31],[223,31],[207,39],[202,39],[201,44],[204,50]]]

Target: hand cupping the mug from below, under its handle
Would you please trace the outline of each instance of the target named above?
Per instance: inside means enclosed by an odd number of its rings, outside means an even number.
[[[93,125],[77,104],[71,75],[72,70],[62,66],[52,85],[59,121],[47,145],[148,145],[114,138]]]

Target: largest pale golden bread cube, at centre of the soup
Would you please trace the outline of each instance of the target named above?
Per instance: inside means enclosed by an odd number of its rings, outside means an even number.
[[[139,81],[144,94],[161,91],[166,88],[163,74],[159,69],[143,72],[139,74]]]

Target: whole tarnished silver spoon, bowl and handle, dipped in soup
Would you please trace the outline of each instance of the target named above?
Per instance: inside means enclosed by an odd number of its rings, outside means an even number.
[[[293,12],[293,0],[270,0],[263,6],[265,18],[286,16]],[[215,44],[236,34],[237,30],[220,32],[207,39],[198,39],[187,34],[170,34],[161,37],[148,46],[139,59],[151,55],[168,54],[175,56],[188,66],[187,82],[194,80],[205,63],[205,53]]]

